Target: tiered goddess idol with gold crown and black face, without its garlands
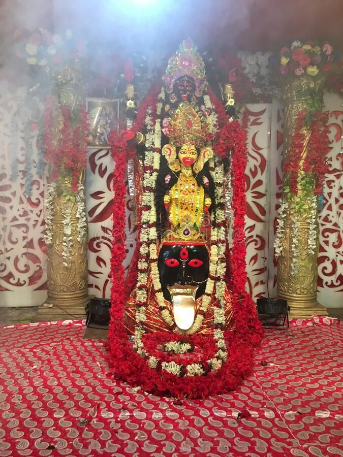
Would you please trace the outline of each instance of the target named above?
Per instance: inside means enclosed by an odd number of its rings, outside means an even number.
[[[217,124],[206,107],[204,63],[191,40],[169,60],[164,76],[167,100],[161,110],[162,157],[156,181],[158,270],[166,308],[178,333],[208,332],[212,328],[214,295],[202,324],[195,319],[203,301],[210,264],[211,213],[215,207],[214,181],[209,160]],[[166,96],[165,96],[166,98]],[[205,99],[206,100],[206,99]],[[208,103],[207,103],[208,105]],[[212,122],[211,122],[212,121]],[[213,122],[214,121],[214,122]],[[226,290],[229,323],[230,293]],[[169,331],[149,285],[147,330]],[[127,329],[134,334],[136,299],[127,306]],[[200,319],[198,319],[199,322]]]

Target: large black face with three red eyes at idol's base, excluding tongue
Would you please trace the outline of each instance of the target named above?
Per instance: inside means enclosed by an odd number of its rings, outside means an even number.
[[[209,273],[209,255],[204,245],[163,245],[158,259],[164,298],[171,301],[167,286],[198,286],[195,298],[203,295]]]

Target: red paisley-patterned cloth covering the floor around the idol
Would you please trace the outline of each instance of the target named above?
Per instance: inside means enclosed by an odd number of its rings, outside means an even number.
[[[236,391],[182,402],[116,384],[81,321],[2,328],[0,456],[341,456],[343,326],[295,323]]]

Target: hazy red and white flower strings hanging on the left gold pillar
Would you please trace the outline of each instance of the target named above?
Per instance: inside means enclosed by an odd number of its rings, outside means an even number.
[[[76,115],[76,113],[74,113]],[[81,106],[75,119],[72,119],[68,106],[59,106],[53,97],[47,97],[43,113],[41,132],[42,155],[51,168],[50,179],[45,199],[45,243],[52,243],[52,217],[55,195],[70,200],[76,205],[78,220],[78,241],[82,241],[87,232],[85,215],[84,186],[80,182],[86,167],[86,122],[85,107]],[[60,124],[59,132],[56,125]],[[65,210],[63,221],[62,257],[68,266],[72,249],[72,209]]]

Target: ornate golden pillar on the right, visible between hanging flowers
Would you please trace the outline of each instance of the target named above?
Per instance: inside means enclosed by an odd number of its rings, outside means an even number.
[[[291,139],[295,131],[295,125],[298,113],[304,109],[306,97],[310,91],[316,91],[320,94],[321,82],[314,82],[310,78],[299,78],[285,86],[285,149],[284,157],[291,153]],[[306,157],[307,142],[310,137],[310,130],[304,126],[302,132],[305,134],[304,149],[302,161]],[[303,173],[301,164],[299,167],[299,177]],[[285,179],[285,177],[284,177]],[[315,195],[313,193],[313,195]],[[306,211],[303,214],[295,213],[291,204],[301,200],[304,196],[301,191],[292,196],[289,201],[289,209],[285,220],[285,235],[282,241],[282,253],[278,257],[277,264],[277,296],[287,300],[291,308],[290,317],[310,317],[313,315],[327,316],[326,309],[317,301],[317,279],[318,279],[318,249],[319,249],[319,231],[317,230],[315,253],[308,252],[308,234],[309,221],[306,217]],[[283,195],[286,200],[286,195]],[[292,242],[294,240],[294,222],[298,221],[298,230],[296,235],[298,256],[297,272],[292,274]],[[317,222],[318,223],[318,222]]]

